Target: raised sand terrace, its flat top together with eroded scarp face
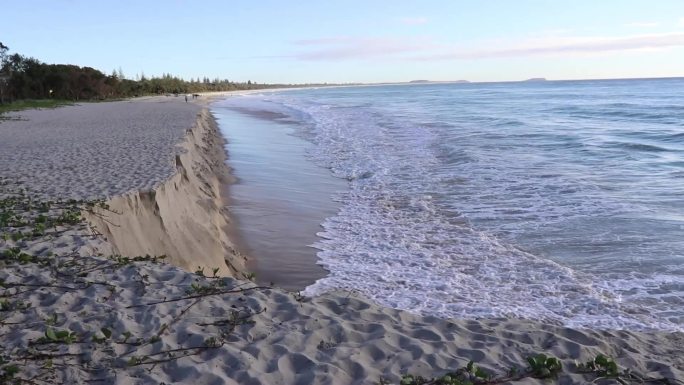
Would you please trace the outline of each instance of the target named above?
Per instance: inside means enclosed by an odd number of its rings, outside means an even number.
[[[0,177],[45,199],[109,197],[107,210],[84,216],[111,253],[240,276],[245,258],[221,196],[224,141],[206,102],[161,96],[12,114],[0,123]]]

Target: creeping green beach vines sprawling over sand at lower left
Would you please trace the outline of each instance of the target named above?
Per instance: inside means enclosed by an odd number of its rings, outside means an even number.
[[[224,346],[236,328],[249,327],[253,317],[264,309],[248,306],[231,308],[227,316],[207,316],[198,326],[210,328],[214,335],[204,338],[199,344],[170,346],[163,343],[163,336],[187,316],[189,310],[203,300],[214,296],[243,296],[251,291],[270,289],[252,282],[240,282],[218,276],[219,268],[213,268],[212,276],[205,277],[204,269],[198,268],[196,278],[185,284],[183,295],[163,298],[158,301],[142,300],[124,309],[154,308],[165,303],[183,303],[180,311],[169,322],[159,325],[148,335],[136,336],[131,330],[117,330],[108,323],[88,322],[95,315],[83,310],[68,317],[52,313],[46,317],[31,317],[27,323],[26,312],[31,308],[32,296],[54,293],[57,296],[73,293],[85,298],[86,291],[94,287],[103,288],[97,302],[107,304],[115,296],[138,298],[136,293],[145,292],[154,282],[139,267],[157,264],[166,256],[97,255],[83,257],[75,252],[59,253],[53,250],[32,252],[33,245],[51,243],[68,231],[80,231],[79,236],[98,237],[100,234],[85,226],[81,215],[87,211],[95,213],[111,210],[102,200],[40,200],[31,195],[21,184],[0,180],[0,267],[9,275],[0,277],[0,384],[53,384],[64,381],[67,371],[84,372],[91,369],[94,355],[102,358],[95,363],[100,368],[96,381],[108,381],[122,368],[146,367],[198,356],[206,351]],[[100,214],[102,215],[102,214]],[[106,220],[106,218],[103,218]],[[90,233],[88,233],[90,231]],[[41,274],[31,275],[32,266]],[[137,277],[137,287],[121,288],[101,279],[93,278],[95,273],[116,274],[130,269]],[[130,292],[130,293],[125,293]],[[76,328],[65,327],[69,319],[82,320]],[[193,322],[187,321],[185,322]],[[93,325],[94,324],[94,325]],[[73,324],[72,324],[73,325]],[[91,326],[93,325],[93,326]],[[22,333],[26,328],[41,329],[41,336],[28,340],[28,346],[14,346],[3,338]],[[164,348],[160,349],[163,343]],[[117,346],[128,347],[116,353]]]

